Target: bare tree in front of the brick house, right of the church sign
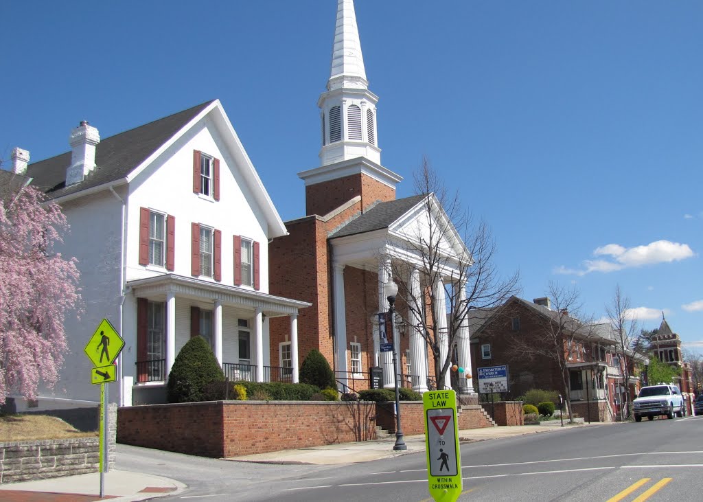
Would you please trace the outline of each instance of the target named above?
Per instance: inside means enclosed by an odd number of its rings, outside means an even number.
[[[583,344],[595,334],[595,324],[583,318],[580,293],[576,288],[565,288],[549,283],[547,295],[553,309],[535,314],[538,330],[512,340],[512,357],[547,359],[555,364],[561,375],[562,395],[565,397],[569,421],[574,421],[569,395],[569,359],[579,359]]]

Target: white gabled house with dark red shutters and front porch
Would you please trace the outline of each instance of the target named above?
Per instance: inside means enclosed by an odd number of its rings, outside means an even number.
[[[309,303],[269,295],[268,243],[287,232],[221,103],[106,139],[81,122],[70,146],[18,167],[63,208],[61,252],[79,261],[84,301],[79,319],[67,317],[60,382],[38,406],[98,401],[84,346],[103,318],[125,342],[110,385],[121,406],[164,402],[176,354],[195,335],[230,378],[297,382],[297,314]],[[278,316],[290,336],[271,361]]]

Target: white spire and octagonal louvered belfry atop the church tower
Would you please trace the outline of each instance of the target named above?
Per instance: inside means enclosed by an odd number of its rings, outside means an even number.
[[[377,101],[378,96],[368,90],[354,1],[338,0],[330,79],[318,100],[322,166],[356,157],[380,164]]]

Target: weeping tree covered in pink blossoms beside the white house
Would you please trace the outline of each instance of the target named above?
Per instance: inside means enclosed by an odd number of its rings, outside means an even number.
[[[67,231],[55,202],[26,186],[0,194],[0,404],[53,387],[67,350],[63,323],[79,308],[76,259],[54,251]]]

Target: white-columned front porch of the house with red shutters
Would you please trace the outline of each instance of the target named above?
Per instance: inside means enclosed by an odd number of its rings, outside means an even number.
[[[136,300],[137,348],[131,364],[123,361],[123,385],[136,398],[129,401],[160,401],[176,354],[194,336],[209,342],[231,381],[298,381],[297,315],[309,303],[174,274],[128,286]],[[271,361],[269,320],[281,316],[288,316],[290,332],[279,344],[279,360]]]

